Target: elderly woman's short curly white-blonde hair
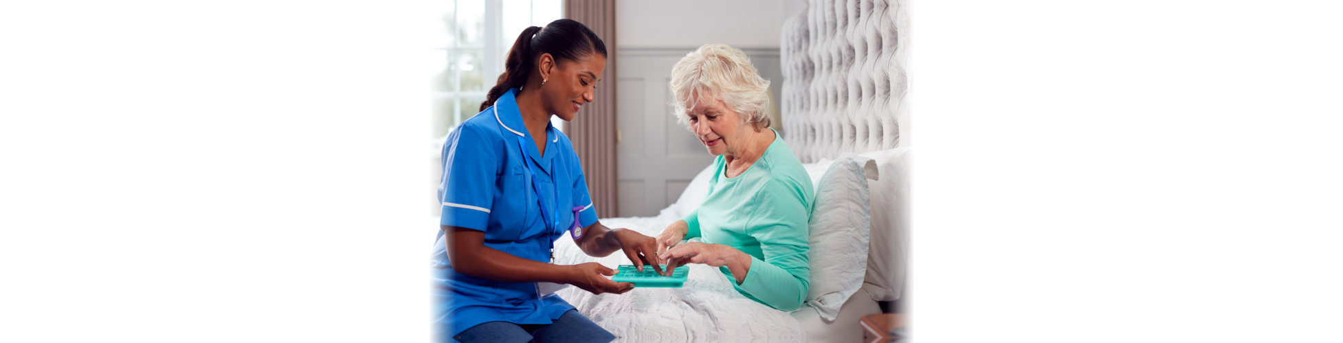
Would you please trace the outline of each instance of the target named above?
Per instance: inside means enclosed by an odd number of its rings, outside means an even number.
[[[725,44],[704,44],[672,67],[672,115],[690,129],[688,111],[700,103],[723,100],[756,129],[770,126],[770,82],[760,78],[751,58]]]

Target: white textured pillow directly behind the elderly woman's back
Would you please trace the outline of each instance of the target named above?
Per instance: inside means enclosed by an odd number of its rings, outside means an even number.
[[[818,180],[811,209],[811,287],[807,304],[834,320],[868,272],[872,205],[868,200],[870,158],[842,154]],[[876,170],[872,170],[876,176]]]

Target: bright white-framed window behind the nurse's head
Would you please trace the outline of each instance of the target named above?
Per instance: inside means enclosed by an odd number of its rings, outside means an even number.
[[[479,113],[513,40],[563,16],[560,0],[447,0],[434,51],[432,138]],[[556,126],[559,127],[559,126]]]

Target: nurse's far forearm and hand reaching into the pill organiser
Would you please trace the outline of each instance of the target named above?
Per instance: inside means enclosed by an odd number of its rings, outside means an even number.
[[[607,228],[602,225],[602,221],[596,221],[583,228],[583,238],[576,244],[583,249],[583,253],[596,257],[624,251],[624,256],[639,271],[643,271],[643,265],[653,265],[654,271],[662,273],[663,261],[658,257],[658,241],[642,233],[624,228]]]

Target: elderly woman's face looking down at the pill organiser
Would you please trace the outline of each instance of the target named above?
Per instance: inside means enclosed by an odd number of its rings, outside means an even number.
[[[728,109],[723,100],[700,103],[686,113],[690,130],[709,154],[736,157],[737,147],[747,143],[751,127],[741,121],[741,114]]]

